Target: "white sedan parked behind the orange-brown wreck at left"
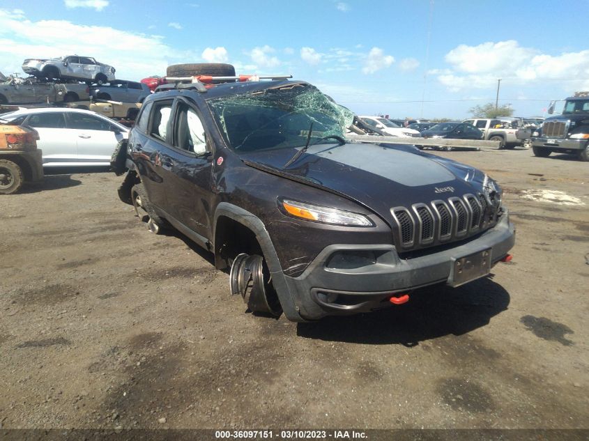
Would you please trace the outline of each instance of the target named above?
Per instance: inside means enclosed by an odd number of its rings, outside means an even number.
[[[105,116],[82,109],[22,109],[0,118],[39,132],[43,167],[105,166],[129,129]]]

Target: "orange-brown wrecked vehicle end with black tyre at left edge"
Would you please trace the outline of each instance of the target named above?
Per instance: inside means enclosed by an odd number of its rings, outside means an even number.
[[[39,134],[31,127],[0,119],[0,194],[18,192],[24,183],[43,180]]]

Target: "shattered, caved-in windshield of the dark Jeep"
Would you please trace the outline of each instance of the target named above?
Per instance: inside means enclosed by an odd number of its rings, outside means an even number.
[[[344,137],[353,113],[309,84],[207,100],[227,145],[234,150],[300,147]],[[330,141],[331,142],[331,141]]]

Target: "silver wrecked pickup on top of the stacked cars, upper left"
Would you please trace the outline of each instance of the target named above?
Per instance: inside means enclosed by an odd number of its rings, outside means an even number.
[[[115,68],[98,63],[91,56],[60,56],[55,59],[25,59],[22,70],[35,77],[47,79],[74,79],[104,84],[115,79]]]

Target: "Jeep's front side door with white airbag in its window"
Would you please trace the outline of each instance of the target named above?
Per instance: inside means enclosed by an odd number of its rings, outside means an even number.
[[[194,103],[176,98],[172,127],[171,144],[162,150],[169,214],[210,239],[213,155],[211,146],[206,143],[201,112]]]

